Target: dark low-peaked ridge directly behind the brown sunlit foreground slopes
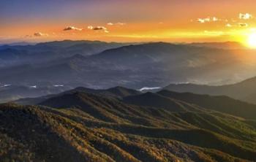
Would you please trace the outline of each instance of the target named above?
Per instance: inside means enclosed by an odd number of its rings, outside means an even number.
[[[1,92],[1,91],[0,91]],[[177,93],[169,90],[161,90],[157,93],[140,93],[123,87],[109,88],[105,90],[91,88],[75,88],[59,94],[40,96],[36,98],[19,99],[18,104],[39,104],[47,99],[73,93],[91,93],[102,97],[121,99],[127,104],[135,104],[143,107],[158,107],[168,109],[172,112],[200,111],[200,109],[211,109],[218,112],[244,117],[246,119],[256,119],[256,105],[248,104],[244,101],[231,99],[227,96],[209,96],[195,93]],[[31,94],[32,95],[32,94]],[[189,103],[189,104],[187,104]],[[200,106],[191,107],[190,104]],[[202,108],[203,107],[203,108]]]

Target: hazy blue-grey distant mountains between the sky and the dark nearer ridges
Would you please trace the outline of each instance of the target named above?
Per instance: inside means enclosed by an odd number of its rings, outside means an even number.
[[[255,50],[244,48],[65,40],[0,49],[0,82],[11,85],[138,89],[170,82],[219,85],[256,75]]]

